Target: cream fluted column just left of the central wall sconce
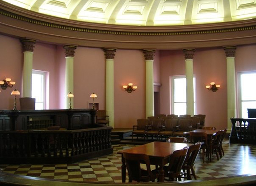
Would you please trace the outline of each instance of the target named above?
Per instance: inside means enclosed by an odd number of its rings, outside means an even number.
[[[114,110],[114,57],[115,48],[104,48],[106,57],[106,111],[109,126],[115,127]]]

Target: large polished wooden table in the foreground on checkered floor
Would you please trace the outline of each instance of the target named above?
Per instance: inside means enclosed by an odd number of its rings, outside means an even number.
[[[191,145],[193,144],[168,143],[168,142],[155,141],[142,146],[136,146],[124,151],[119,151],[118,154],[122,154],[122,152],[147,154],[150,159],[150,164],[159,166],[159,181],[164,181],[163,166],[168,164],[169,157],[172,155],[174,151],[180,150],[185,146],[191,146]],[[121,174],[122,174],[122,182],[124,183],[125,176],[126,176],[126,166],[125,166],[125,160],[123,158],[123,155],[122,155]]]

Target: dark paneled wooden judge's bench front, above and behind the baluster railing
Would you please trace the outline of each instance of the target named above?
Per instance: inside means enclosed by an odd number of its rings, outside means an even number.
[[[96,110],[0,110],[0,131],[35,130],[61,126],[68,130],[88,128],[95,123]]]

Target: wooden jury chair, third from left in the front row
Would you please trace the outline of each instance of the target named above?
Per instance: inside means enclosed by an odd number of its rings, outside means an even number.
[[[165,139],[168,136],[172,136],[173,132],[175,131],[175,128],[178,124],[178,120],[176,119],[166,119],[165,121],[165,126],[160,126],[161,130],[159,132],[160,137],[165,137]]]

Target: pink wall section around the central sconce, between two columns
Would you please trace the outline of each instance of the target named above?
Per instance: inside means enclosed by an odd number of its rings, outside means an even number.
[[[140,50],[115,53],[115,127],[132,127],[145,118],[145,59]],[[123,85],[133,83],[137,90],[127,93]]]

